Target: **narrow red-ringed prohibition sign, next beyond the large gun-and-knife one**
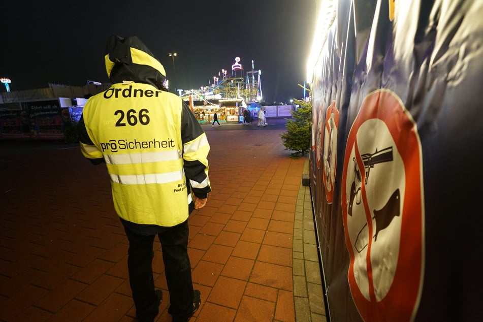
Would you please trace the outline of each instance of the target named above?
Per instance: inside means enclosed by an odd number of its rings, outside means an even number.
[[[326,189],[326,198],[329,204],[332,204],[332,194],[334,191],[338,126],[339,111],[337,110],[335,101],[332,101],[332,104],[329,106],[326,113],[324,134],[324,167],[322,168],[322,177],[324,187]]]

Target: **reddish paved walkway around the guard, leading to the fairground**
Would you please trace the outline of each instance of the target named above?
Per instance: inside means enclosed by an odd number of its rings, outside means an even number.
[[[190,321],[326,321],[306,160],[289,158],[283,126],[268,122],[203,125],[213,191],[189,218],[202,294]],[[0,142],[0,166],[0,320],[135,321],[105,166],[77,145],[12,142]],[[154,250],[156,321],[171,321]]]

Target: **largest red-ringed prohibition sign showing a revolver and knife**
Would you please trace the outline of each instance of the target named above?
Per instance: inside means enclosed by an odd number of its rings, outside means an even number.
[[[366,321],[414,319],[424,272],[421,142],[387,89],[369,93],[352,124],[342,173],[348,282]]]

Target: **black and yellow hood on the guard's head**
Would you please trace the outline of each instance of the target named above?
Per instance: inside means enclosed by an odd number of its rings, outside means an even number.
[[[163,85],[165,68],[136,36],[109,37],[104,59],[112,83],[134,81],[166,89]]]

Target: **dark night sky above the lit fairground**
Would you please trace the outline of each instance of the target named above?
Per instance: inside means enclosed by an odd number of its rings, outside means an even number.
[[[108,36],[138,36],[176,87],[198,89],[235,57],[245,71],[262,70],[266,102],[300,99],[315,29],[315,0],[45,1],[2,4],[0,77],[10,90],[49,83],[109,82]],[[6,91],[0,84],[0,91]],[[173,86],[173,83],[171,83]]]

